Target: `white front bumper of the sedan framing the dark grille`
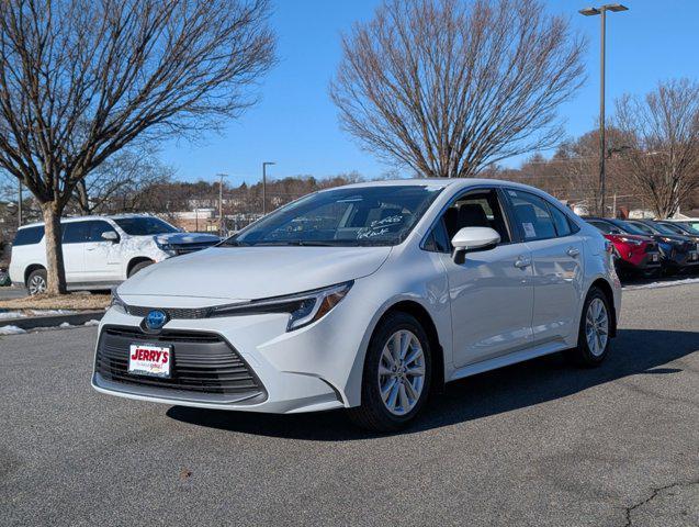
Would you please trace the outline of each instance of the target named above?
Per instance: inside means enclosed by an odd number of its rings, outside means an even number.
[[[100,324],[92,386],[100,392],[123,397],[206,408],[298,413],[351,406],[360,397],[351,386],[359,385],[354,381],[356,375],[361,375],[362,350],[365,346],[363,332],[351,328],[367,328],[373,314],[364,305],[361,294],[353,293],[357,292],[350,291],[320,321],[294,332],[286,332],[288,315],[274,313],[172,319],[166,324],[162,344],[172,346],[174,378],[178,377],[178,357],[184,354],[191,360],[198,350],[191,344],[183,349],[182,343],[169,340],[168,335],[208,335],[223,343],[227,347],[226,352],[235,354],[240,365],[249,371],[249,377],[257,381],[257,386],[252,386],[255,390],[248,393],[245,390],[223,393],[218,385],[208,383],[215,381],[215,375],[204,379],[208,384],[203,389],[192,390],[192,386],[182,389],[158,382],[138,382],[144,378],[132,379],[127,373],[124,378],[124,371],[116,377],[105,374],[100,361],[103,360],[105,337],[111,328],[131,332],[133,338],[128,337],[124,346],[131,339],[134,340],[132,344],[149,341],[140,329],[142,317],[111,309]],[[138,305],[133,298],[128,300],[129,304]],[[207,354],[203,346],[201,350],[202,355]],[[122,362],[122,370],[125,370],[125,359]]]

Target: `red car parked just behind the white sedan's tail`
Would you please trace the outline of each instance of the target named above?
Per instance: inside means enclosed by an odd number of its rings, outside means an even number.
[[[644,277],[661,273],[661,251],[657,243],[649,236],[625,234],[604,220],[587,220],[601,231],[613,246],[615,262],[619,272],[632,272]]]

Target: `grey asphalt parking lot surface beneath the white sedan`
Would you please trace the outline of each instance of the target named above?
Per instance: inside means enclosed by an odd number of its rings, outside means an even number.
[[[601,368],[471,378],[383,437],[101,395],[94,328],[0,337],[0,524],[699,525],[699,283],[623,301]]]

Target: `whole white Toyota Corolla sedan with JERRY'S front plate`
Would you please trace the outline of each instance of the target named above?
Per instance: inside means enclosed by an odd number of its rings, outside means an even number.
[[[92,385],[207,408],[348,408],[392,430],[446,382],[556,351],[599,365],[620,302],[602,235],[540,190],[352,184],[124,282]]]

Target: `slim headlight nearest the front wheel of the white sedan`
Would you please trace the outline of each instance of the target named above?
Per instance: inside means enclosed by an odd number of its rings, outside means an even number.
[[[238,316],[259,313],[289,313],[286,330],[307,326],[327,315],[349,292],[353,281],[304,293],[255,300],[245,304],[221,305],[210,316]]]

